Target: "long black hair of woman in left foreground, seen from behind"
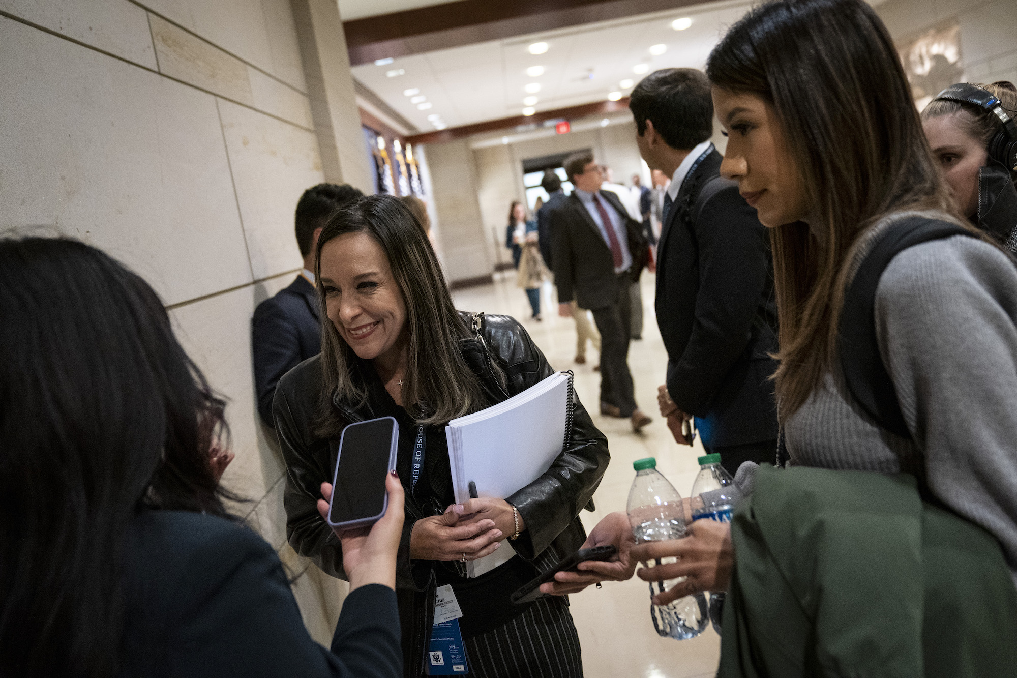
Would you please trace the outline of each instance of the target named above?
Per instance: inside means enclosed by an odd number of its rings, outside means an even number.
[[[0,675],[112,675],[144,508],[225,514],[216,398],[159,297],[102,251],[0,240]]]

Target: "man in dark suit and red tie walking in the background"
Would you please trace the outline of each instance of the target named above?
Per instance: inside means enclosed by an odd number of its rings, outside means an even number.
[[[651,419],[636,404],[629,372],[629,288],[646,266],[642,224],[617,195],[600,190],[603,175],[590,152],[569,156],[564,169],[576,189],[550,215],[558,315],[572,317],[573,299],[593,312],[600,330],[600,412],[627,417],[639,432]]]

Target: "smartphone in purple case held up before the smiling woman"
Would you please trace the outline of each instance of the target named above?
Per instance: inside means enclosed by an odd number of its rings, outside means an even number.
[[[332,483],[328,524],[371,525],[388,508],[384,478],[396,467],[399,422],[391,416],[351,423],[339,440],[339,459]]]

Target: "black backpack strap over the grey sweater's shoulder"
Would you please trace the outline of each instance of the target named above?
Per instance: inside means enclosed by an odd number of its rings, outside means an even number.
[[[910,438],[911,434],[904,423],[897,392],[883,364],[876,338],[876,288],[898,253],[953,235],[978,237],[956,224],[928,217],[908,217],[895,222],[865,256],[844,293],[837,349],[847,390],[877,423],[903,438]]]

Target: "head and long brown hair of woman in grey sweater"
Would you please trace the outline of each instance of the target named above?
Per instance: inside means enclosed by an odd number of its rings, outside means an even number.
[[[890,35],[863,0],[751,10],[707,63],[728,134],[721,173],[774,228],[781,416],[835,344],[845,261],[879,216],[953,211]]]

